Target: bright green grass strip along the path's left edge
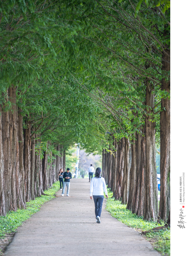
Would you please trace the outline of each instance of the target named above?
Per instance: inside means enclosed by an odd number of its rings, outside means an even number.
[[[6,233],[15,232],[25,220],[31,215],[39,211],[42,204],[50,201],[55,197],[55,193],[60,189],[59,181],[55,182],[51,188],[45,190],[44,193],[49,196],[36,197],[35,200],[26,203],[26,209],[18,209],[10,211],[6,216],[0,217],[0,238],[3,238]]]

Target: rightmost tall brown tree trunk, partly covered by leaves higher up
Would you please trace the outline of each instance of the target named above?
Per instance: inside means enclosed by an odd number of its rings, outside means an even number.
[[[165,49],[169,54],[169,50]],[[170,57],[163,53],[162,70],[170,71]],[[170,91],[170,81],[162,78],[162,91]],[[162,98],[160,113],[160,201],[158,220],[167,220],[170,209],[170,99]]]

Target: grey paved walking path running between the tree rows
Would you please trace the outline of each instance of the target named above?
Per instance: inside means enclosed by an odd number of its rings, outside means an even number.
[[[113,218],[105,203],[96,223],[88,179],[71,179],[70,197],[45,203],[17,229],[6,256],[158,256],[134,229]],[[66,192],[66,190],[65,190]]]

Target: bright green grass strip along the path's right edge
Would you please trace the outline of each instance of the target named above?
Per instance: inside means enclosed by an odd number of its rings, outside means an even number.
[[[109,199],[107,200],[106,209],[116,219],[126,224],[128,227],[137,229],[137,231],[149,231],[152,228],[164,226],[165,223],[158,224],[154,221],[144,220],[126,209],[126,205],[120,201],[114,200],[112,192],[108,189]],[[159,251],[161,255],[170,255],[170,229],[162,229],[159,231],[150,231],[146,233],[146,238],[154,246],[154,249]]]

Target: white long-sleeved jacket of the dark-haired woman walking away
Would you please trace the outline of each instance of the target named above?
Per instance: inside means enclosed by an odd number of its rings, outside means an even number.
[[[103,192],[104,189],[104,192]],[[90,196],[104,196],[107,194],[107,186],[103,177],[92,178],[90,183]]]

